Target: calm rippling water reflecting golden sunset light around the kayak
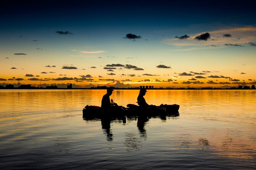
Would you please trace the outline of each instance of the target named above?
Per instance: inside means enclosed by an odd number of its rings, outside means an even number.
[[[115,90],[119,105],[139,91]],[[178,117],[83,120],[105,90],[0,90],[0,169],[256,169],[256,90],[148,90]]]

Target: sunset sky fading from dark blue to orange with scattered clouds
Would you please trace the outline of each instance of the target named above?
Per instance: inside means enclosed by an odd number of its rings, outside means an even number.
[[[0,2],[0,85],[256,84],[256,2]]]

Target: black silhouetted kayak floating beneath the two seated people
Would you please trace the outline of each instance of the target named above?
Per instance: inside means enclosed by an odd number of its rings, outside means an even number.
[[[179,115],[178,104],[161,104],[160,106],[150,106],[141,108],[135,104],[127,104],[127,107],[116,106],[108,110],[104,110],[99,106],[85,106],[83,109],[83,117],[123,117],[123,116],[168,116]]]

